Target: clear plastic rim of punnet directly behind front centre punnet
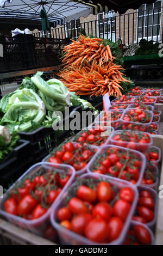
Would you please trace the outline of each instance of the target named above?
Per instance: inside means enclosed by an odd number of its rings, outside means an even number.
[[[127,155],[127,152],[131,153],[132,155],[135,155],[137,157],[137,159],[140,161],[141,163],[141,167],[139,170],[139,179],[136,182],[136,185],[141,184],[141,180],[145,171],[145,167],[146,167],[146,157],[140,153],[139,151],[133,150],[133,149],[127,149],[127,148],[123,148],[123,147],[119,147],[116,145],[104,145],[101,149],[99,149],[97,151],[97,153],[92,157],[90,163],[87,165],[87,172],[92,173],[91,169],[94,166],[94,163],[96,162],[96,159],[99,159],[99,157],[103,156],[103,153],[105,151],[107,151],[109,148],[117,148],[118,150],[120,150],[121,152],[124,152],[124,155]],[[107,174],[106,174],[107,175]],[[110,176],[110,175],[107,175]],[[122,181],[121,178],[116,178],[119,181]]]

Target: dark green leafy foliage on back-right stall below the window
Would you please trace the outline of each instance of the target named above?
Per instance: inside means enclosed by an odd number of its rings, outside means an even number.
[[[153,44],[153,40],[147,41],[146,39],[141,39],[139,46],[140,47],[136,50],[135,55],[147,55],[159,52],[159,42]]]

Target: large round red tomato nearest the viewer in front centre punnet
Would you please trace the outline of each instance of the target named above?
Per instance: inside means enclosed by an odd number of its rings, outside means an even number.
[[[105,242],[108,237],[108,223],[102,219],[95,218],[85,228],[85,236],[93,242]]]

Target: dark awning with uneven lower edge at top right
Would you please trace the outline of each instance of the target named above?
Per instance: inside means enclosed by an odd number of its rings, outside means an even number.
[[[156,0],[78,0],[78,3],[87,4],[92,8],[92,13],[97,14],[100,11],[108,13],[109,10],[118,11],[119,14],[124,14],[128,9],[138,9],[142,4],[152,4]]]

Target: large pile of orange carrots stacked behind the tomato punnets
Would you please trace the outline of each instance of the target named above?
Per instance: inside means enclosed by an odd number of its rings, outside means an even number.
[[[72,40],[73,41],[73,40]],[[130,82],[123,77],[120,65],[113,61],[109,45],[102,39],[79,36],[79,41],[64,47],[64,68],[58,72],[60,80],[76,95],[100,96],[108,93],[121,96],[121,82]]]

